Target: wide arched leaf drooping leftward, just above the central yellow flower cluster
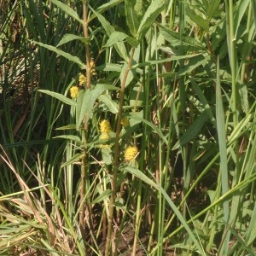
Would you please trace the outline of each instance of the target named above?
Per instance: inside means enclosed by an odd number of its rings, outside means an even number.
[[[94,103],[96,99],[102,95],[105,90],[119,90],[118,87],[113,86],[112,84],[96,84],[90,90],[85,90],[83,95],[78,96],[78,105],[77,105],[77,130],[84,122],[87,123],[93,112]]]

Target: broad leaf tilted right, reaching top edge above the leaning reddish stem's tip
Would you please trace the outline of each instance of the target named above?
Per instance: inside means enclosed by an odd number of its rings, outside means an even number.
[[[137,29],[137,40],[140,41],[148,32],[148,29],[152,26],[158,15],[160,15],[161,11],[165,9],[166,1],[165,0],[153,0],[145,14],[143,15],[143,19],[140,23],[140,26]]]

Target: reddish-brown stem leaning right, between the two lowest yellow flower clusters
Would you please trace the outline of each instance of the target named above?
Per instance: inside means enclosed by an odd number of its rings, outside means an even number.
[[[115,201],[115,195],[116,195],[116,184],[117,184],[117,172],[118,172],[118,166],[119,166],[119,137],[121,132],[121,119],[122,119],[122,113],[123,113],[123,107],[124,107],[124,96],[125,96],[125,82],[128,76],[129,71],[131,70],[131,63],[133,60],[134,55],[134,48],[131,49],[131,56],[128,62],[128,66],[125,70],[124,79],[121,83],[121,89],[119,91],[119,113],[118,113],[118,119],[117,119],[117,125],[116,125],[116,135],[115,135],[115,143],[114,143],[114,156],[113,156],[113,180],[112,180],[112,191],[113,193],[110,196],[110,202],[109,202],[109,219],[108,219],[108,236],[107,236],[107,243],[105,248],[105,255],[108,256],[109,247],[110,247],[110,241],[113,239],[112,237],[112,225],[113,225],[113,209],[114,209],[114,201]]]

